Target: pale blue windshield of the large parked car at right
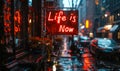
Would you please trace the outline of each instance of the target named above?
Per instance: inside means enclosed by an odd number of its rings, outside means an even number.
[[[116,46],[117,43],[112,39],[99,39],[98,45],[100,46],[102,45],[104,47],[113,47],[113,46]]]

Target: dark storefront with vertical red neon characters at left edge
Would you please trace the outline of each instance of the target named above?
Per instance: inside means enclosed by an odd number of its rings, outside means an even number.
[[[14,60],[27,54],[28,41],[28,2],[20,0],[2,0],[0,19],[2,25],[0,58],[5,65],[14,64]],[[3,52],[4,51],[4,52]],[[13,63],[12,63],[13,62]]]

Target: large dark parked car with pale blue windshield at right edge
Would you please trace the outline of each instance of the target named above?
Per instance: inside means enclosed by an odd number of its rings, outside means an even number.
[[[109,38],[95,38],[91,40],[90,52],[97,58],[120,59],[120,45]]]

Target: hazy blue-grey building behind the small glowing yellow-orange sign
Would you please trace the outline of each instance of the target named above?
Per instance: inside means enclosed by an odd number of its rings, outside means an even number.
[[[81,0],[79,7],[79,20],[80,20],[79,22],[81,25],[85,26],[84,32],[82,33],[85,33],[88,36],[89,33],[93,33],[94,8],[95,8],[94,0]],[[87,25],[86,21],[88,21]]]

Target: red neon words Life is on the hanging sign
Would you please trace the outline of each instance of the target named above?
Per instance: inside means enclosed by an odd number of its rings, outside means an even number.
[[[54,17],[52,17],[54,13],[49,12],[48,14],[48,21],[56,21],[57,23],[60,23],[61,21],[65,22],[67,20],[70,20],[71,22],[75,23],[77,21],[76,15],[73,13],[70,14],[70,17],[67,18],[67,16],[64,14],[63,11],[59,11],[58,13],[55,13]]]

